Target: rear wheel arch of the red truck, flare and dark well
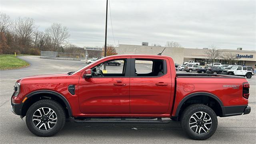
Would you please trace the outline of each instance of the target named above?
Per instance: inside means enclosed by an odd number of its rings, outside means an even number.
[[[180,116],[180,114],[182,113],[182,110],[184,110],[184,108],[187,107],[185,104],[186,104],[186,102],[189,102],[189,100],[193,100],[193,102],[190,104],[196,104],[196,103],[204,103],[205,104],[205,102],[214,102],[216,104],[216,109],[214,110],[214,112],[218,116],[222,116],[223,103],[217,96],[215,96],[214,94],[210,94],[208,92],[196,92],[196,93],[189,94],[188,96],[185,96],[180,101],[180,103],[176,109],[176,112],[175,112],[175,117],[178,118]],[[201,100],[201,102],[198,102],[196,100]]]

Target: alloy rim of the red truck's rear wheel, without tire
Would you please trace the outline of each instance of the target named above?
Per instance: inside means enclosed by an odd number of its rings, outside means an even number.
[[[212,119],[206,112],[196,112],[190,117],[189,127],[195,134],[205,134],[212,127]]]

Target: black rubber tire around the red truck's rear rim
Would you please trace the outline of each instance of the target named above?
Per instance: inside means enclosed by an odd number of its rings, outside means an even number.
[[[190,129],[190,118],[196,112],[205,112],[211,118],[211,122],[212,122],[211,127],[204,134],[196,134],[192,129]],[[208,107],[204,104],[192,104],[192,105],[188,106],[183,111],[181,120],[180,120],[180,124],[181,124],[182,129],[185,130],[185,132],[188,134],[188,136],[190,138],[192,138],[194,140],[206,140],[206,139],[210,138],[216,131],[217,126],[218,126],[218,119],[217,119],[215,112],[210,107]],[[196,125],[197,125],[197,123],[196,123]]]

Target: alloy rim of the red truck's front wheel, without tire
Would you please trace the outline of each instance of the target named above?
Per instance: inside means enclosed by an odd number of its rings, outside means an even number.
[[[32,116],[32,122],[38,130],[48,131],[56,126],[57,114],[51,108],[38,108]]]

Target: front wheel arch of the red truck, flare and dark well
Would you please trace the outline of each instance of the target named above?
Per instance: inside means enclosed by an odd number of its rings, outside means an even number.
[[[58,92],[54,92],[52,90],[38,90],[35,92],[31,92],[25,98],[27,98],[27,100],[24,102],[24,104],[22,106],[22,112],[21,112],[22,117],[26,116],[26,112],[28,111],[28,108],[32,104],[34,104],[38,100],[42,100],[42,99],[56,100],[63,106],[63,108],[66,112],[66,116],[67,117],[72,116],[72,110],[71,110],[70,104],[68,103],[68,100],[64,96],[62,96],[62,94],[59,94]]]

